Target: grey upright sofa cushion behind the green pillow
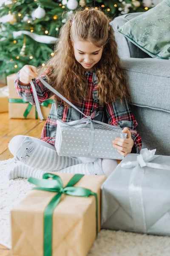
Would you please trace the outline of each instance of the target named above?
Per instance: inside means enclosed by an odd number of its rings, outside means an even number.
[[[111,26],[114,30],[115,39],[117,42],[118,53],[120,58],[151,58],[146,52],[142,51],[135,44],[130,42],[128,38],[118,32],[119,27],[123,26],[127,21],[138,17],[143,12],[128,13],[126,15],[121,15],[111,21]]]

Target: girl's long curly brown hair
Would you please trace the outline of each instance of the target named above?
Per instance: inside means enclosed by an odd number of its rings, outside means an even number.
[[[46,62],[51,66],[47,81],[70,102],[86,99],[87,80],[84,70],[74,57],[71,42],[89,41],[96,47],[103,47],[102,57],[94,66],[99,89],[99,103],[104,105],[110,101],[123,98],[130,99],[126,86],[125,72],[121,67],[117,52],[117,44],[111,19],[102,11],[94,8],[77,11],[73,18],[60,29],[59,43],[54,48],[54,56]],[[55,95],[56,104],[59,101]]]

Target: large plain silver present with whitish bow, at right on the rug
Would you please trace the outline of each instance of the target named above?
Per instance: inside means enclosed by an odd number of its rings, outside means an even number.
[[[170,235],[170,156],[127,154],[102,185],[102,228]]]

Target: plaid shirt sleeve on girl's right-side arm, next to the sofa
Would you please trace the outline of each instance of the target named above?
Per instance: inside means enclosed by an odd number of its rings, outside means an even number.
[[[131,133],[134,145],[131,153],[140,153],[142,148],[142,140],[139,133],[136,131],[137,122],[130,110],[130,107],[125,99],[123,105],[119,101],[106,104],[106,113],[108,116],[108,124],[119,125],[121,128],[127,127]]]

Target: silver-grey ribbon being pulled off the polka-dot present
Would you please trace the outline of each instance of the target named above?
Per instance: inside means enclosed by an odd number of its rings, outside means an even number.
[[[40,78],[40,76],[37,77],[37,79],[40,79],[40,81],[42,82],[42,84],[47,87],[49,90],[51,90],[51,92],[53,92],[54,94],[56,94],[60,99],[64,100],[68,105],[70,105],[71,107],[73,107],[74,109],[76,109],[79,113],[81,113],[83,116],[85,116],[82,119],[76,120],[76,121],[72,121],[72,122],[62,122],[61,120],[57,120],[57,125],[60,125],[62,127],[85,127],[86,125],[88,125],[90,123],[91,125],[91,135],[90,135],[90,142],[89,142],[89,147],[88,147],[88,155],[91,154],[92,151],[92,147],[93,147],[93,141],[94,141],[94,123],[100,124],[100,125],[105,125],[108,127],[111,127],[111,125],[100,122],[100,121],[95,121],[91,119],[91,116],[86,116],[82,111],[80,111],[76,106],[74,106],[71,102],[68,101],[68,99],[66,99],[64,96],[62,96],[59,92],[57,92],[57,90],[55,90],[51,85],[49,85],[46,81],[44,81],[42,78]],[[40,116],[40,119],[43,120],[43,116],[41,113],[41,109],[40,109],[40,103],[38,101],[38,97],[37,97],[37,93],[35,90],[35,86],[33,81],[30,81],[32,90],[33,90],[33,95],[34,95],[34,100],[35,100],[35,104],[37,107],[37,112]],[[119,131],[122,131],[122,128],[120,128],[119,126],[114,126],[115,129],[118,129]],[[126,138],[127,137],[127,133],[120,133],[120,137],[121,138]]]

